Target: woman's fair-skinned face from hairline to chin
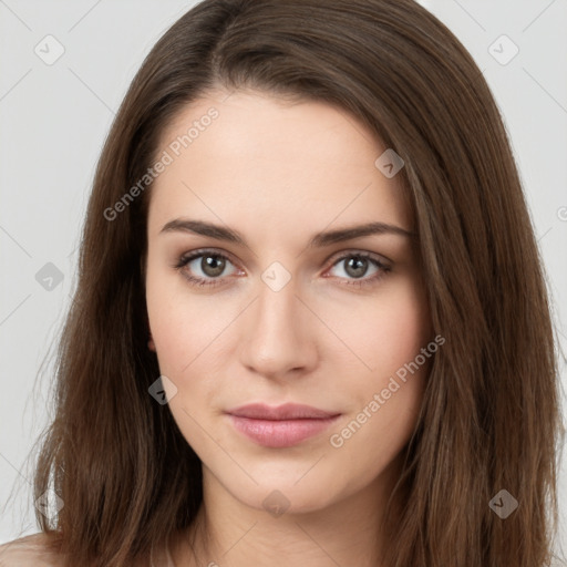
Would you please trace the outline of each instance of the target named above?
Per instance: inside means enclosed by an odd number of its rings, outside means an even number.
[[[432,336],[412,220],[399,177],[374,165],[386,147],[353,116],[227,96],[190,104],[162,136],[153,343],[205,480],[258,509],[271,494],[317,511],[378,485],[415,426]],[[328,417],[234,415],[252,403]]]

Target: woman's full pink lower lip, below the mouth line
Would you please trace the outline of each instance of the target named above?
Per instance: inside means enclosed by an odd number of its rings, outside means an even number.
[[[339,415],[326,419],[255,420],[230,415],[233,425],[247,437],[266,447],[290,447],[324,431]]]

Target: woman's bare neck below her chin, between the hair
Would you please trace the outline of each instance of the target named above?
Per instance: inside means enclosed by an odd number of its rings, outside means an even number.
[[[382,567],[385,542],[401,511],[384,513],[400,475],[395,460],[363,489],[315,512],[275,517],[243,504],[204,467],[204,498],[189,534],[173,549],[176,567]],[[193,538],[193,550],[187,539]]]

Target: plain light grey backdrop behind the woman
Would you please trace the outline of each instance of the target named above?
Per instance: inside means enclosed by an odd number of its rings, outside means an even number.
[[[80,228],[102,144],[143,58],[195,3],[0,0],[0,543],[38,532],[27,457],[51,417],[49,364],[38,372],[54,352],[75,284]],[[472,53],[503,113],[565,352],[567,1],[422,3]],[[564,391],[563,360],[560,369]],[[565,465],[564,458],[561,548]]]

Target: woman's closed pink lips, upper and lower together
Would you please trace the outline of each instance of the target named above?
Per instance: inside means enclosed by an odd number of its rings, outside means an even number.
[[[340,413],[295,403],[271,408],[261,403],[228,410],[236,430],[267,447],[289,447],[324,431]]]

